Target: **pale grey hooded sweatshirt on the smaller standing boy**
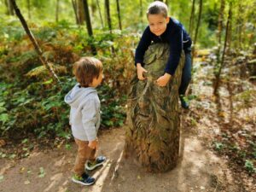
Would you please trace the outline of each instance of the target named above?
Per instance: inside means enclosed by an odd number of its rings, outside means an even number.
[[[101,121],[101,103],[96,89],[76,84],[65,96],[65,102],[71,107],[69,123],[73,137],[82,141],[95,140]]]

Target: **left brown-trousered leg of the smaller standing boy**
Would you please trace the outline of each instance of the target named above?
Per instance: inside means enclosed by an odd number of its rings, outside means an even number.
[[[88,147],[88,142],[81,141],[75,138],[79,149],[76,157],[75,165],[73,167],[73,172],[77,176],[81,176],[84,173],[84,164],[86,160],[90,159],[90,154],[92,149]]]

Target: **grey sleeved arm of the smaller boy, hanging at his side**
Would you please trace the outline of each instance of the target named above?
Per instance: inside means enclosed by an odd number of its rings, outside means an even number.
[[[82,110],[82,123],[89,142],[96,140],[96,113],[95,100],[88,100]]]

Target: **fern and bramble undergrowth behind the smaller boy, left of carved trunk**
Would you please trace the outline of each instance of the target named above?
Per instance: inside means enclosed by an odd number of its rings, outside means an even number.
[[[137,36],[99,31],[95,38],[88,38],[84,27],[72,28],[66,22],[47,25],[34,26],[33,32],[44,50],[44,58],[51,63],[62,84],[55,84],[49,78],[49,72],[27,39],[19,43],[5,41],[3,47],[8,49],[3,58],[0,57],[3,61],[0,65],[0,79],[3,80],[0,87],[1,136],[24,138],[32,133],[39,138],[71,137],[69,106],[63,99],[76,84],[73,62],[79,59],[78,55],[90,55],[90,44],[96,46],[106,76],[98,88],[102,101],[102,127],[123,125],[126,98],[119,95],[119,90],[125,93],[127,79],[133,75],[131,44],[137,41]],[[119,57],[113,59],[113,54]]]

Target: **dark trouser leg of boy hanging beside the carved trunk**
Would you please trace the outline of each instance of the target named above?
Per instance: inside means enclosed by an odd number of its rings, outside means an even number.
[[[186,90],[189,86],[191,80],[191,53],[185,54],[185,64],[183,67],[182,81],[179,86],[178,93],[179,95],[185,95]]]

